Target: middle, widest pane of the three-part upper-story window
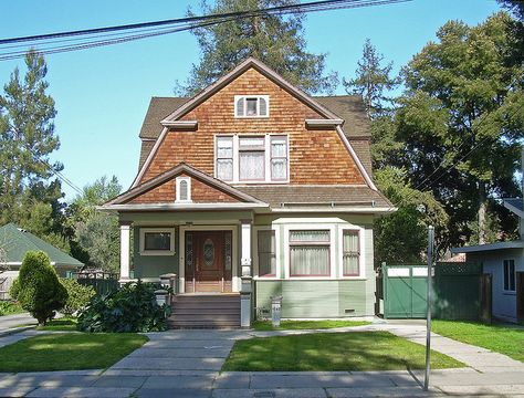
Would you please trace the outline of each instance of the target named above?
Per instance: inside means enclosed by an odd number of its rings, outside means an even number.
[[[265,137],[239,137],[239,179],[265,179]]]

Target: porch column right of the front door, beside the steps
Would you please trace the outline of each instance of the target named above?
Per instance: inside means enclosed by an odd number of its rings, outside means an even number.
[[[241,220],[241,280],[240,290],[240,326],[251,326],[251,220]]]

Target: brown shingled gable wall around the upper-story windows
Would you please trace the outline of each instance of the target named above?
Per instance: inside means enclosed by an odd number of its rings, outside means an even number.
[[[234,95],[269,95],[270,116],[235,118]],[[187,104],[186,104],[187,105]],[[185,105],[185,106],[186,106]],[[217,134],[285,134],[290,145],[290,184],[366,184],[363,170],[333,127],[308,129],[305,119],[326,119],[289,90],[250,67],[180,117],[198,122],[196,130],[166,129],[136,184],[179,163],[214,176]]]

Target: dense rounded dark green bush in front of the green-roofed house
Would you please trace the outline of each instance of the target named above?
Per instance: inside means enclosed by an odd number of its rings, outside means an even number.
[[[67,301],[67,291],[60,283],[43,251],[29,251],[25,254],[10,294],[40,325],[45,325],[54,316],[54,311],[61,310]]]

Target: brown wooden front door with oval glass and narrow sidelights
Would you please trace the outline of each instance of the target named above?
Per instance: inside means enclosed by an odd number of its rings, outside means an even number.
[[[230,231],[186,232],[186,292],[231,292]]]

